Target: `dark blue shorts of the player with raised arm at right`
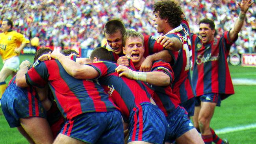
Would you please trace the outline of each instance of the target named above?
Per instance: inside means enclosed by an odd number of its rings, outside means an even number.
[[[220,107],[221,96],[218,93],[209,93],[209,94],[204,94],[202,96],[197,96],[195,106],[200,106],[201,102],[217,103],[217,106]]]

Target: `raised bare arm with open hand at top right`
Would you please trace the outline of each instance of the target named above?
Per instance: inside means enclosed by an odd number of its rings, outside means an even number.
[[[239,16],[234,24],[234,28],[230,30],[229,38],[230,41],[234,42],[237,38],[237,34],[241,30],[244,20],[245,14],[248,11],[249,7],[252,6],[253,2],[251,0],[242,0],[241,3],[238,2],[238,6],[240,7]]]

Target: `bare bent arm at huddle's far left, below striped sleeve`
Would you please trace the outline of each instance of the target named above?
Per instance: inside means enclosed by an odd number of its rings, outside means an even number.
[[[28,83],[26,82],[26,76],[25,74],[28,72],[28,69],[30,68],[32,64],[30,63],[30,61],[26,60],[26,61],[23,61],[21,64],[20,64],[20,70],[17,72],[16,74],[16,85],[18,87],[28,87]]]

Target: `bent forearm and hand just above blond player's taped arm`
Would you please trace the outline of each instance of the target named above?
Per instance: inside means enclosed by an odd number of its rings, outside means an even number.
[[[168,52],[168,50],[162,50],[160,52],[154,53],[152,55],[148,55],[143,63],[141,63],[141,67],[139,71],[141,72],[149,72],[152,67],[153,61],[163,60],[167,63],[172,61],[172,56]]]

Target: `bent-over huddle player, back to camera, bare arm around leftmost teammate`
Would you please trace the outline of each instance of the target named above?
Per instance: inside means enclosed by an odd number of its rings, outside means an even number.
[[[39,55],[48,52],[52,50],[37,51]],[[55,144],[124,142],[121,113],[102,86],[93,80],[73,78],[58,60],[37,61],[30,70],[20,67],[16,83],[19,87],[43,87],[48,83],[66,118]]]

